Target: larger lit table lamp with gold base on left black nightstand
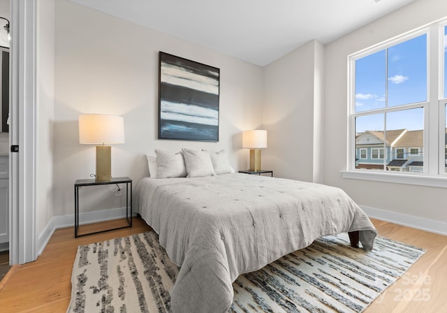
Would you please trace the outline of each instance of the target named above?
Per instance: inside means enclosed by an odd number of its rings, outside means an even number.
[[[96,144],[96,182],[112,179],[110,145],[124,143],[124,119],[117,115],[79,115],[79,143]]]

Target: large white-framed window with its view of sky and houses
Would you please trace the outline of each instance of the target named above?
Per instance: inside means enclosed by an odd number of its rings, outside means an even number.
[[[367,168],[352,156],[374,146],[374,170],[447,177],[446,59],[447,20],[350,56],[349,170]]]

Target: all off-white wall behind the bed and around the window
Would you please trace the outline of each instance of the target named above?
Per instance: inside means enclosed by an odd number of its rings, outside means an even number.
[[[343,179],[347,153],[347,56],[447,15],[447,1],[418,0],[328,45],[307,43],[260,68],[66,0],[56,1],[54,215],[73,214],[73,182],[94,173],[94,147],[78,143],[78,115],[124,116],[112,175],[135,184],[154,148],[226,149],[247,168],[242,129],[268,129],[263,167],[277,177],[341,187],[359,205],[446,221],[445,189]],[[219,143],[157,140],[159,50],[221,69]],[[104,189],[94,208],[120,206]],[[110,202],[102,201],[110,195]],[[101,199],[101,200],[100,200]],[[93,208],[94,207],[94,208]]]

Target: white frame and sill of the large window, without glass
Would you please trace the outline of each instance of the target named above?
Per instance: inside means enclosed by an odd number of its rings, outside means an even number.
[[[342,170],[342,176],[349,179],[373,180],[379,182],[395,182],[402,184],[416,184],[433,187],[447,188],[447,171],[445,169],[445,150],[446,145],[445,125],[446,125],[446,103],[444,98],[444,27],[447,25],[447,19],[437,20],[414,31],[391,38],[388,41],[379,43],[370,48],[349,55],[349,153],[347,170]],[[362,170],[356,169],[355,140],[355,60],[365,57],[379,50],[383,50],[393,45],[397,45],[411,38],[427,34],[427,102],[413,103],[411,105],[400,105],[396,109],[404,110],[410,108],[423,108],[424,110],[424,145],[421,148],[424,152],[423,173],[400,172],[390,173],[386,170]],[[446,78],[447,79],[447,78]],[[441,100],[439,100],[441,99]],[[393,112],[393,108],[388,108],[387,112]],[[385,110],[370,111],[370,114],[377,114]],[[359,112],[360,113],[360,112]],[[439,126],[440,125],[440,126]],[[442,127],[441,127],[442,126]],[[429,133],[437,136],[429,137]],[[388,151],[385,150],[385,160],[388,159]]]

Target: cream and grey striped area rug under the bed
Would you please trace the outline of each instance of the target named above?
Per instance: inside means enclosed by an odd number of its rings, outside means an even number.
[[[326,236],[240,275],[228,312],[362,312],[424,252],[379,236],[364,252],[346,233]],[[170,312],[178,270],[154,232],[79,246],[67,312]]]

